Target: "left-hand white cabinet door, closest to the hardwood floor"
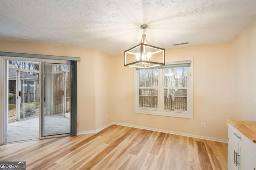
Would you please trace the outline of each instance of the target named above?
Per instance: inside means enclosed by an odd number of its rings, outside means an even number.
[[[235,153],[238,153],[238,141],[234,134],[228,133],[228,170],[238,170]]]

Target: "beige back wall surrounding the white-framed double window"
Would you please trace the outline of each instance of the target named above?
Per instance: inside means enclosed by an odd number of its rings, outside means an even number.
[[[120,56],[115,57],[114,121],[226,140],[226,119],[231,115],[231,44],[166,51],[166,61],[187,58],[194,58],[194,119],[133,113],[134,69],[124,67]]]

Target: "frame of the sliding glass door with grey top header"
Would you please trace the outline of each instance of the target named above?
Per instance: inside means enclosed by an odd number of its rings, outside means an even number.
[[[72,64],[76,61],[80,61],[80,58],[78,57],[62,57],[62,56],[51,56],[51,55],[33,55],[33,54],[24,54],[24,53],[8,53],[8,52],[0,52],[0,82],[4,82],[3,86],[0,86],[0,145],[3,145],[6,143],[6,107],[7,107],[7,98],[8,98],[8,93],[6,92],[6,89],[8,87],[6,87],[6,67],[8,67],[8,64],[5,64],[6,60],[16,60],[16,61],[36,61],[36,62],[40,62],[40,66],[42,65],[42,61],[46,62],[46,63],[56,63],[56,61],[58,60],[58,63],[60,64],[66,64],[66,62],[64,61],[72,61]],[[76,66],[76,64],[74,64]],[[40,70],[40,75],[42,74],[42,68],[39,69]],[[75,68],[76,70],[76,68]],[[76,74],[76,73],[75,73]],[[76,80],[76,79],[75,79]],[[39,84],[41,84],[41,78],[39,78]],[[75,83],[76,84],[76,83]],[[41,95],[42,93],[42,86],[40,86],[40,92],[39,95]],[[75,95],[76,96],[76,95]],[[77,99],[74,99],[75,101]],[[42,98],[40,98],[40,108],[41,108],[41,102],[42,102]],[[75,102],[76,103],[76,102]],[[77,104],[77,103],[76,103]],[[73,106],[73,107],[77,107],[77,106]],[[41,109],[40,109],[41,110]],[[73,109],[76,111],[76,108]],[[40,111],[41,112],[41,111]],[[76,114],[77,113],[72,113],[74,114],[74,117],[76,119]],[[40,113],[40,115],[42,115],[42,113]],[[70,116],[71,118],[71,116]],[[39,116],[39,123],[41,123],[41,116]],[[71,120],[70,120],[71,121]],[[76,127],[77,127],[77,120],[76,121]],[[74,121],[72,121],[74,123]],[[54,135],[54,136],[48,136],[48,137],[42,137],[41,133],[41,124],[39,125],[39,139],[45,139],[45,138],[51,138],[51,137],[60,137],[60,136],[66,136],[67,134],[64,135]],[[74,124],[73,124],[74,126]],[[71,130],[71,129],[70,129]],[[75,131],[76,128],[75,128]],[[76,132],[75,132],[76,135]]]

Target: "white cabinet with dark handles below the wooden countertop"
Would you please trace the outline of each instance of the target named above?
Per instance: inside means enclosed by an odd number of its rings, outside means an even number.
[[[228,123],[228,170],[256,170],[256,144],[230,123]]]

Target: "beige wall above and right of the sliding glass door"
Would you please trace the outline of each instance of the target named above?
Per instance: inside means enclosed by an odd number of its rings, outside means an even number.
[[[110,89],[111,82],[107,78],[111,76],[109,73],[111,69],[108,70],[111,67],[109,56],[93,49],[14,41],[0,41],[0,51],[80,57],[81,61],[78,62],[78,131],[92,131],[112,122],[111,112],[108,119],[102,118],[102,115],[106,117],[106,111],[110,111],[108,106],[111,103],[107,98],[111,93],[107,91]],[[108,67],[104,65],[105,63]],[[99,92],[102,95],[99,96]]]

